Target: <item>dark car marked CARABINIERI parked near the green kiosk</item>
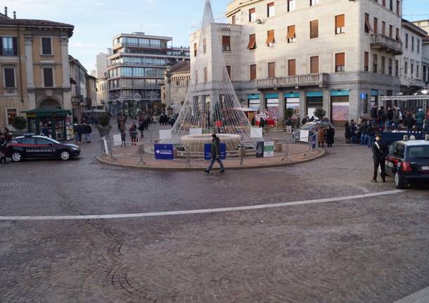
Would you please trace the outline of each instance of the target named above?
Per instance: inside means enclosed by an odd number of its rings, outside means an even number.
[[[60,158],[67,161],[72,157],[79,157],[80,148],[75,144],[60,143],[47,136],[27,134],[14,138],[8,144],[7,154],[13,162],[39,158]]]

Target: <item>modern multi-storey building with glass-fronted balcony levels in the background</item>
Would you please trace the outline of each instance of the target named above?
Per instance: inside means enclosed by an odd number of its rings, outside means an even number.
[[[153,109],[160,103],[160,84],[167,65],[188,60],[189,49],[173,47],[172,37],[143,32],[113,37],[113,55],[108,57],[109,110],[130,115]]]

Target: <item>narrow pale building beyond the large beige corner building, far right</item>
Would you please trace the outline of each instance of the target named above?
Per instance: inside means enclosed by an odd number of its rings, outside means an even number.
[[[413,22],[402,20],[402,41],[404,53],[398,56],[401,76],[401,91],[414,94],[425,87],[423,82],[423,39],[428,35]],[[425,67],[425,73],[427,69]]]

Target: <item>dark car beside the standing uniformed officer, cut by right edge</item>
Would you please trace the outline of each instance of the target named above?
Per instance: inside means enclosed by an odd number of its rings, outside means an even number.
[[[418,182],[429,183],[429,141],[396,141],[389,147],[386,174],[402,189]]]

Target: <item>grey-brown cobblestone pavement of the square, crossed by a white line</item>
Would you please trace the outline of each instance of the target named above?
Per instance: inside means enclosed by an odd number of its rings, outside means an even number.
[[[153,172],[70,162],[0,167],[0,215],[124,214],[395,189],[371,154],[293,167]],[[429,286],[429,191],[219,214],[0,221],[0,302],[395,302]]]

